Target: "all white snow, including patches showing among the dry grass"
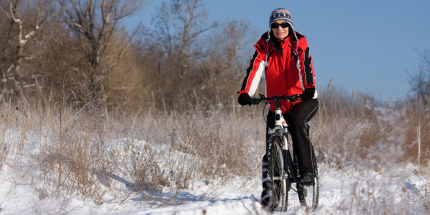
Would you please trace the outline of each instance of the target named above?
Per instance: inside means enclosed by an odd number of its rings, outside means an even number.
[[[380,113],[376,118],[377,123],[391,125],[392,127],[387,129],[387,135],[396,137],[387,138],[387,142],[375,144],[375,147],[381,147],[386,152],[379,157],[384,160],[384,163],[378,163],[376,160],[347,160],[346,158],[339,159],[341,164],[338,166],[333,164],[335,162],[318,163],[320,182],[318,208],[314,211],[304,208],[300,205],[297,194],[290,190],[288,211],[274,212],[274,214],[429,214],[426,193],[429,185],[427,184],[429,169],[411,163],[391,162],[401,156],[396,142],[405,139],[403,136],[395,135],[402,127],[396,126],[396,120],[393,120],[393,117],[401,118],[402,114],[393,114],[384,109],[377,111]],[[346,135],[355,138],[353,144],[360,144],[362,141],[359,139],[360,134],[363,130],[369,129],[370,124],[364,122],[354,126]],[[49,131],[44,128],[37,131],[28,132],[24,136],[13,129],[2,131],[1,144],[5,148],[8,146],[9,151],[3,163],[0,154],[0,215],[268,214],[261,209],[259,203],[262,188],[261,175],[258,173],[251,178],[230,177],[228,181],[220,176],[208,180],[199,178],[200,176],[196,174],[191,175],[190,184],[184,186],[186,188],[175,190],[172,188],[173,184],[170,184],[153,190],[139,191],[141,187],[138,187],[137,181],[133,181],[134,179],[126,174],[126,171],[121,172],[120,166],[115,166],[110,170],[112,172],[104,172],[101,169],[92,170],[98,185],[110,191],[102,195],[99,200],[70,192],[71,190],[48,192],[48,188],[44,187],[46,185],[43,179],[40,178],[41,170],[35,167],[32,159],[38,152],[45,150],[44,145],[49,141],[47,138]],[[24,141],[25,150],[15,147],[15,144],[20,141]],[[180,137],[177,142],[181,142]],[[260,160],[261,155],[255,149],[260,143],[249,144],[251,154],[255,155],[255,159]],[[184,148],[189,147],[185,142],[181,142],[181,145]],[[198,155],[172,150],[169,144],[154,145],[147,140],[124,137],[107,140],[103,148],[103,153],[110,154],[113,163],[126,166],[136,159],[136,155],[141,155],[144,151],[154,152],[160,156],[158,165],[166,169],[175,171],[175,169],[199,168],[195,166],[195,160],[199,159]],[[322,153],[326,152],[322,151]],[[369,154],[369,159],[374,156],[376,155]],[[343,155],[326,154],[324,157],[327,160],[335,157],[342,158]],[[222,171],[229,168],[226,163],[215,167]],[[169,177],[179,177],[174,173]],[[146,186],[140,184],[142,185]],[[118,198],[118,196],[124,198]]]

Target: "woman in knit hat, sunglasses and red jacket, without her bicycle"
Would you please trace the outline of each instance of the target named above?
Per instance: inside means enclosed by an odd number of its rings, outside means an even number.
[[[313,181],[314,168],[311,157],[311,142],[307,122],[318,109],[315,90],[315,73],[309,46],[304,35],[293,28],[293,21],[288,10],[273,10],[269,19],[269,31],[255,43],[255,54],[246,71],[245,80],[239,91],[239,104],[251,104],[264,72],[266,79],[266,96],[300,94],[301,100],[282,101],[283,116],[289,124],[294,155],[298,160],[300,183]],[[267,114],[267,133],[274,127],[275,105],[270,105]],[[267,135],[266,135],[267,142]],[[266,144],[267,145],[267,144]],[[270,180],[268,180],[267,152],[263,157],[263,192],[261,204],[267,206],[270,197]]]

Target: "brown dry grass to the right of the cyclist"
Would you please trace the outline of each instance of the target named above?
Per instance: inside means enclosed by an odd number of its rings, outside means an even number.
[[[417,163],[418,122],[421,120],[421,134],[429,130],[426,104],[381,104],[369,95],[339,92],[326,89],[320,94],[318,114],[310,122],[311,140],[320,162],[343,168],[362,166],[360,161],[365,160],[365,168],[375,169],[393,163]],[[427,136],[421,135],[421,163],[430,156]]]

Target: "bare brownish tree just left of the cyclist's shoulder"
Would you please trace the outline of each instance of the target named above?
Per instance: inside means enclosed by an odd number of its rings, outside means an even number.
[[[242,79],[249,54],[253,50],[252,43],[255,42],[252,41],[250,35],[253,34],[250,34],[251,29],[247,27],[247,23],[249,21],[244,20],[224,22],[209,37],[210,54],[196,74],[200,79],[197,82],[201,83],[197,94],[208,94],[208,89],[215,94],[221,91],[236,91],[238,84],[234,82]]]

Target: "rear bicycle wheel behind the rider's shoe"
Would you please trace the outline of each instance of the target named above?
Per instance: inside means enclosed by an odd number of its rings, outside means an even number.
[[[312,163],[314,167],[314,181],[312,185],[303,185],[297,183],[298,198],[302,206],[306,206],[309,209],[316,209],[319,201],[319,178],[318,178],[318,167],[316,164],[315,151],[312,149]]]

